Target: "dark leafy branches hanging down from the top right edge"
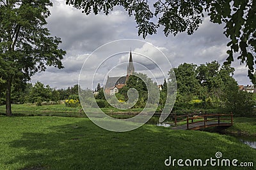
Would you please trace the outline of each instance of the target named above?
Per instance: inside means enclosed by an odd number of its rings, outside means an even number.
[[[227,46],[228,57],[225,64],[234,61],[234,53],[240,52],[237,59],[248,66],[248,76],[255,83],[253,64],[256,62],[256,30],[255,30],[255,0],[66,0],[66,3],[89,15],[97,15],[103,11],[108,15],[115,6],[123,6],[128,15],[134,15],[138,24],[138,34],[145,38],[148,34],[156,34],[163,27],[164,34],[174,36],[186,31],[193,34],[200,24],[204,14],[210,16],[211,22],[225,24],[224,34],[230,41]]]

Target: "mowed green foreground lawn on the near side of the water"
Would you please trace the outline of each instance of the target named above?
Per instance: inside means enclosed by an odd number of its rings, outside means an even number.
[[[0,117],[0,169],[181,169],[164,166],[164,160],[215,159],[216,152],[256,165],[256,150],[215,133],[155,125],[110,132],[88,118]],[[230,168],[236,169],[215,167]]]

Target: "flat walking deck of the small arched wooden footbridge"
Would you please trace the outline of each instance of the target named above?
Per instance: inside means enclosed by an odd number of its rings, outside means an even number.
[[[216,127],[216,126],[232,126],[231,123],[228,122],[220,122],[220,124],[218,124],[218,122],[214,122],[214,121],[207,121],[205,122],[196,122],[194,124],[189,124],[189,130],[198,130],[198,129],[204,129],[206,127]],[[187,124],[184,125],[179,125],[176,127],[172,127],[173,130],[186,130],[187,129]]]

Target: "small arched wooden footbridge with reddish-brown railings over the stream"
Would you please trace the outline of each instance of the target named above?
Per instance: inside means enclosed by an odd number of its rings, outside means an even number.
[[[177,118],[186,117],[177,121]],[[175,127],[177,130],[198,130],[207,127],[229,127],[233,125],[233,114],[205,114],[205,115],[175,115]],[[183,123],[182,123],[183,122]],[[184,124],[186,122],[186,124]],[[177,126],[177,123],[182,124]]]

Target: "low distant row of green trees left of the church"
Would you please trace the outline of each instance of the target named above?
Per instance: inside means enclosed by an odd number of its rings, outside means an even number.
[[[6,92],[0,90],[0,104],[5,104]],[[12,86],[12,104],[19,103],[42,103],[42,102],[56,102],[66,99],[79,99],[78,97],[78,85],[68,87],[67,89],[51,88],[49,85],[37,81],[35,85],[32,83],[19,83],[18,87]]]

